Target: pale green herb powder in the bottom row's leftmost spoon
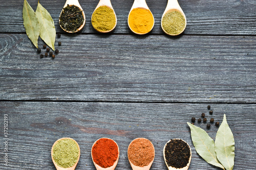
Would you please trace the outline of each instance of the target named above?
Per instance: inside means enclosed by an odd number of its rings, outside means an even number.
[[[53,159],[60,167],[72,167],[77,162],[78,156],[77,144],[71,139],[62,139],[53,147]]]

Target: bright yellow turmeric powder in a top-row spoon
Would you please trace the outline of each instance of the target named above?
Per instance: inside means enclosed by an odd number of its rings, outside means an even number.
[[[135,8],[128,17],[130,29],[137,34],[146,34],[154,27],[154,16],[148,9]]]

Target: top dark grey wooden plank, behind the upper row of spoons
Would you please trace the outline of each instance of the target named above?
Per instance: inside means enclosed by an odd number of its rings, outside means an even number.
[[[37,1],[28,1],[36,10]],[[91,25],[91,15],[98,1],[79,1],[85,14],[86,25],[82,33],[98,34]],[[111,34],[132,34],[127,26],[127,16],[133,0],[112,0],[117,14],[117,27]],[[164,34],[161,30],[161,17],[167,1],[147,0],[155,17],[155,27],[150,34]],[[58,17],[65,4],[65,0],[40,1],[52,15],[57,32],[63,32],[58,26]],[[184,34],[208,35],[255,35],[256,33],[256,1],[255,0],[179,0],[179,4],[186,14],[187,28]],[[23,1],[1,1],[0,4],[0,32],[25,33],[22,19]]]

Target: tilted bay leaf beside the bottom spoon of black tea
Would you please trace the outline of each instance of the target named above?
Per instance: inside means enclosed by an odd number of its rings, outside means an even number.
[[[209,164],[224,167],[220,164],[216,157],[214,139],[201,128],[196,127],[187,122],[191,131],[191,138],[197,153]]]

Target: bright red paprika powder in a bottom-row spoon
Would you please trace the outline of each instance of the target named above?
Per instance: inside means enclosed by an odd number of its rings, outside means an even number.
[[[92,147],[93,161],[103,168],[113,166],[118,155],[118,145],[109,138],[98,139]]]

